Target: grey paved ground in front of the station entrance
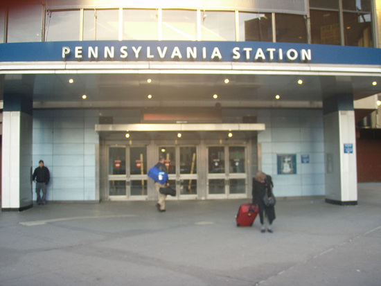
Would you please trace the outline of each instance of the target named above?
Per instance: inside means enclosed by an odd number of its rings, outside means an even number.
[[[274,233],[238,228],[242,202],[0,213],[0,285],[381,285],[381,183],[359,184],[357,206],[278,199]]]

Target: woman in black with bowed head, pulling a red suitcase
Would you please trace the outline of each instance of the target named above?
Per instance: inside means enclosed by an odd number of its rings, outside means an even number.
[[[267,217],[269,223],[267,231],[272,233],[272,222],[275,220],[275,209],[274,206],[265,206],[265,204],[263,204],[263,197],[266,195],[265,181],[267,182],[267,185],[269,185],[267,195],[270,195],[270,193],[272,193],[272,188],[274,187],[272,177],[266,175],[264,172],[256,172],[256,175],[253,178],[253,204],[258,205],[260,232],[264,233],[266,231],[264,218]]]

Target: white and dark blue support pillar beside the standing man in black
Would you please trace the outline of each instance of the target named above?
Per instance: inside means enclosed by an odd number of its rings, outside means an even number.
[[[33,100],[19,94],[3,96],[2,211],[33,206]]]

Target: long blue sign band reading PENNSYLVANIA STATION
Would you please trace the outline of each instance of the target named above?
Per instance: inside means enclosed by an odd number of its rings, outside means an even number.
[[[381,65],[381,49],[273,42],[73,41],[0,44],[0,62],[101,61]]]

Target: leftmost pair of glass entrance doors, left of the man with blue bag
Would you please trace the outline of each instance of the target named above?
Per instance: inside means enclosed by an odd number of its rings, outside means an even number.
[[[108,179],[111,199],[147,197],[147,148],[110,146]]]

